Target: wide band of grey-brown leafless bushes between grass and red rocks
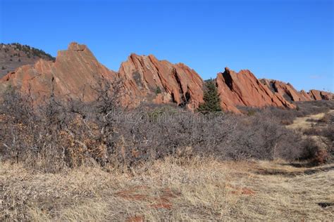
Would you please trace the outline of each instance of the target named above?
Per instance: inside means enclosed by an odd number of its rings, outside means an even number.
[[[282,125],[282,119],[303,115],[300,110],[267,108],[242,117],[202,115],[168,105],[126,110],[120,105],[121,79],[101,77],[92,89],[93,103],[64,102],[51,95],[40,107],[8,90],[0,105],[1,158],[54,172],[82,164],[128,169],[171,155],[301,159],[318,153]]]

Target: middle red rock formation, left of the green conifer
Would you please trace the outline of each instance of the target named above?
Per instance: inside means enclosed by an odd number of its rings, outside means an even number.
[[[194,109],[203,101],[201,77],[182,63],[131,54],[120,65],[119,74],[135,86],[137,96],[153,98],[156,103],[174,102]]]

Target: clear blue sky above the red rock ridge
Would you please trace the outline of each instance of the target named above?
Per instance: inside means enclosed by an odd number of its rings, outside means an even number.
[[[185,63],[204,79],[228,66],[334,91],[331,0],[0,1],[4,43],[56,55],[78,41],[111,70],[134,52]]]

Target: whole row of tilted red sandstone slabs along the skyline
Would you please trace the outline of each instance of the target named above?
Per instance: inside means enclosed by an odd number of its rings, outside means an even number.
[[[71,43],[59,51],[55,62],[40,59],[23,65],[0,79],[0,93],[8,86],[27,93],[35,103],[51,95],[61,99],[96,99],[92,86],[100,80],[123,79],[122,104],[135,107],[142,102],[176,103],[194,110],[203,103],[204,81],[183,63],[157,60],[154,55],[131,54],[118,72],[101,65],[85,45]],[[311,90],[296,91],[291,84],[256,79],[249,70],[236,73],[225,68],[217,74],[216,85],[221,107],[240,113],[239,106],[294,108],[293,101],[331,99],[333,94]]]

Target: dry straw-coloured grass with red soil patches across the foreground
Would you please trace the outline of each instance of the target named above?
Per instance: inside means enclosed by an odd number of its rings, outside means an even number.
[[[334,165],[176,159],[131,172],[82,167],[60,174],[0,163],[0,220],[330,221]]]

